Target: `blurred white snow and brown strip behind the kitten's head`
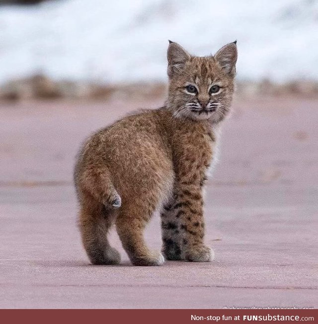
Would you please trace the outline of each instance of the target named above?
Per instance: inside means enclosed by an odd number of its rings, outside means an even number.
[[[168,39],[237,39],[239,94],[318,92],[317,0],[0,0],[0,98],[162,96]]]

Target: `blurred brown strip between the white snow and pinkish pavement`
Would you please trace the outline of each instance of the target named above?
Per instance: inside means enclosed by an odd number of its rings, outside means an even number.
[[[0,87],[0,100],[25,99],[134,99],[152,100],[164,97],[164,83],[135,83],[102,85],[97,83],[54,81],[44,75],[7,82]],[[237,96],[304,96],[317,97],[318,83],[299,80],[282,85],[264,80],[261,82],[238,82]]]

